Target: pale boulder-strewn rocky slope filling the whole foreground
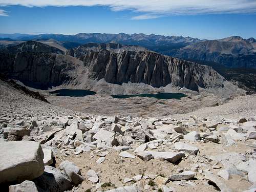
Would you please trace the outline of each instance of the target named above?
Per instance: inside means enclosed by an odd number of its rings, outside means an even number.
[[[254,191],[256,117],[247,116],[89,115],[1,82],[1,189]]]

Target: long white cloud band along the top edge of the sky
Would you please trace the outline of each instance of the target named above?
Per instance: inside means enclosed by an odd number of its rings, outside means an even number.
[[[108,6],[112,11],[131,10],[132,19],[165,15],[256,13],[255,0],[0,0],[0,6]],[[142,13],[142,14],[141,14]]]

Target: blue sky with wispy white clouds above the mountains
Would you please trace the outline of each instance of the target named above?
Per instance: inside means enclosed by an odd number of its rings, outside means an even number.
[[[141,1],[143,3],[144,0]],[[171,6],[173,1],[159,0],[159,5],[155,4],[157,1],[148,0],[151,5],[142,5],[131,0],[131,5],[126,5],[125,1],[110,0],[45,0],[44,3],[29,0],[6,3],[0,0],[0,33],[123,32],[182,35],[201,39],[232,35],[256,38],[254,0],[226,0],[225,4],[219,0],[214,1],[219,3],[195,0],[194,7],[189,5],[191,1],[184,0],[183,4],[176,4],[175,9]],[[209,5],[201,5],[207,1]],[[247,2],[248,5],[242,6],[239,2]],[[222,8],[224,5],[229,8]]]

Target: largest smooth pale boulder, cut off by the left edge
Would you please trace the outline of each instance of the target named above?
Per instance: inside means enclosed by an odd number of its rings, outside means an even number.
[[[44,153],[37,142],[1,143],[0,154],[0,183],[32,180],[44,173]]]

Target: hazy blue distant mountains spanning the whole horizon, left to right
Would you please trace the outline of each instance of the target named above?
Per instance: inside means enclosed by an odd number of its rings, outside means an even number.
[[[122,45],[145,47],[167,56],[182,59],[212,61],[231,68],[256,69],[256,40],[232,36],[218,40],[201,40],[192,37],[145,34],[78,33],[63,34],[0,34],[0,48],[17,45],[27,40],[40,41],[46,45],[67,51],[79,45],[116,42]]]

